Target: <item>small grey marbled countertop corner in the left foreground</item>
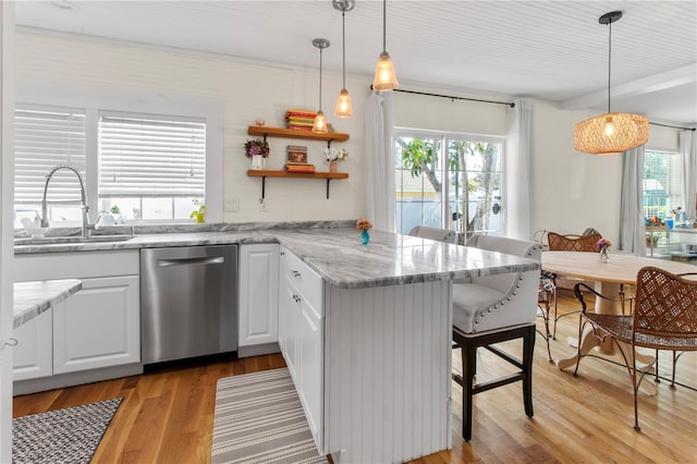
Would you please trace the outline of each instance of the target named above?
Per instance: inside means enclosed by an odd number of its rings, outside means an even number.
[[[14,328],[35,318],[83,288],[76,279],[14,283]]]

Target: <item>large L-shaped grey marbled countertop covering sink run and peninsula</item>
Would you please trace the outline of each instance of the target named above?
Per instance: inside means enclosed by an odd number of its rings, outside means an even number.
[[[395,233],[370,231],[370,243],[362,245],[355,222],[232,224],[218,230],[171,233],[136,233],[121,242],[35,244],[15,246],[26,253],[139,249],[167,246],[280,243],[332,285],[383,286],[535,270],[533,259],[479,248],[433,242]]]

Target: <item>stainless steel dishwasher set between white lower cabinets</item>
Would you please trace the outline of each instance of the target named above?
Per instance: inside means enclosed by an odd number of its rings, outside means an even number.
[[[140,251],[143,364],[237,350],[237,245]]]

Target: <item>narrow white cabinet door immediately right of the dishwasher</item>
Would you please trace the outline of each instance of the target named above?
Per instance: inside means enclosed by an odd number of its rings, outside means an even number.
[[[279,340],[279,245],[240,247],[240,346]]]

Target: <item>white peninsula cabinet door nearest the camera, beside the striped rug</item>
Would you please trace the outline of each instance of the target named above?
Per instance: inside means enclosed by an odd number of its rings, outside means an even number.
[[[299,302],[298,369],[301,401],[318,449],[321,449],[322,430],[322,318],[308,301]]]

